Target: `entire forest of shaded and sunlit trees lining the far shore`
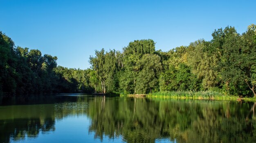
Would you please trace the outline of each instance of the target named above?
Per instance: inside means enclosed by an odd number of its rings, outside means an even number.
[[[167,52],[155,50],[152,39],[122,51],[95,50],[91,67],[82,70],[57,66],[56,56],[15,46],[0,32],[0,95],[218,91],[256,97],[256,25],[243,34],[227,26],[211,35]]]

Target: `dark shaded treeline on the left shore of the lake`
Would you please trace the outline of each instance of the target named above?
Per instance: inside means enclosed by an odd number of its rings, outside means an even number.
[[[0,32],[0,95],[92,92],[88,70],[58,66],[57,57],[15,47]]]

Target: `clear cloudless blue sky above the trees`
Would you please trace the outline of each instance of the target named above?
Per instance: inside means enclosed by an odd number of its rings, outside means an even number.
[[[58,65],[90,67],[94,50],[122,50],[153,39],[171,50],[214,29],[239,33],[256,24],[256,0],[0,0],[0,30],[16,46],[58,57]]]

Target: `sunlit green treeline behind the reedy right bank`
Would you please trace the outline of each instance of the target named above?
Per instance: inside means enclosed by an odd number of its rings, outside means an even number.
[[[151,39],[130,42],[122,52],[96,50],[90,83],[103,93],[213,90],[256,96],[256,26],[242,35],[228,26],[212,37],[168,52],[156,51]]]

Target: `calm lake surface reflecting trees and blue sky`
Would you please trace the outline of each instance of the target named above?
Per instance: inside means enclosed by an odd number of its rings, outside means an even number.
[[[92,95],[3,99],[0,143],[255,143],[254,106]]]

